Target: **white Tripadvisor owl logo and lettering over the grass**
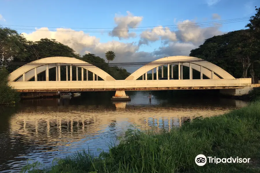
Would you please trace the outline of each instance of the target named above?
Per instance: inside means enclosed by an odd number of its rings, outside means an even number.
[[[216,157],[206,157],[203,154],[199,154],[195,157],[195,163],[198,166],[204,166],[207,163],[207,158],[209,163],[249,163],[250,158],[239,158],[239,157],[229,157],[229,158],[216,158]]]

